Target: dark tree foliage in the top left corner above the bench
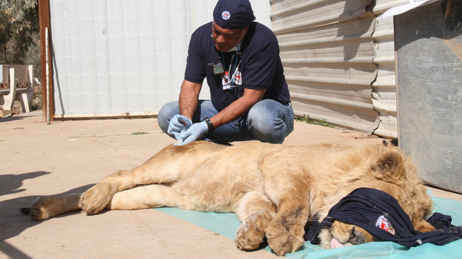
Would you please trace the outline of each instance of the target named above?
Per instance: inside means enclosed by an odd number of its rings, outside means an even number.
[[[38,33],[37,0],[0,0],[0,64],[34,65],[38,69],[40,63],[29,60],[36,59],[29,52],[39,48]]]

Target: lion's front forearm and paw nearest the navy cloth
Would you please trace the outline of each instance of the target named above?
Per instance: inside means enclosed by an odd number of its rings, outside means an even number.
[[[310,213],[307,200],[293,194],[280,199],[276,217],[265,231],[276,255],[296,252],[303,245],[304,226]]]

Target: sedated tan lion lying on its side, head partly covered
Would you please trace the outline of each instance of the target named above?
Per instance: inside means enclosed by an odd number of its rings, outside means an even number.
[[[356,188],[382,190],[399,202],[416,230],[435,230],[425,219],[432,199],[416,168],[395,147],[338,144],[288,146],[258,141],[222,146],[195,141],[169,145],[131,170],[116,171],[83,194],[37,198],[33,220],[83,210],[135,210],[179,207],[185,210],[236,212],[242,222],[236,245],[259,246],[266,236],[279,256],[302,246],[304,226]],[[353,229],[354,228],[354,229]],[[352,231],[354,230],[354,238]],[[342,246],[372,241],[365,230],[335,221],[320,235]]]

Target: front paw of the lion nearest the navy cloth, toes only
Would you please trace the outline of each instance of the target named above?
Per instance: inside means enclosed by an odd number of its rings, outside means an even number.
[[[281,228],[268,227],[266,230],[266,238],[269,247],[278,256],[283,256],[286,253],[293,253],[303,245],[303,238],[292,235]]]

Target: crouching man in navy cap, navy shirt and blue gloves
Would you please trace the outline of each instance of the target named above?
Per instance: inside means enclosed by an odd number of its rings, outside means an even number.
[[[177,145],[259,140],[282,143],[293,110],[276,36],[254,22],[249,0],[219,0],[213,22],[191,35],[179,101],[158,113]],[[199,100],[204,78],[211,100]]]

